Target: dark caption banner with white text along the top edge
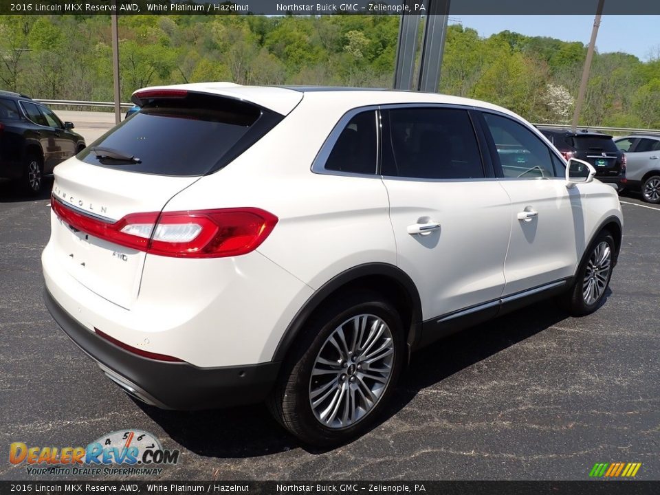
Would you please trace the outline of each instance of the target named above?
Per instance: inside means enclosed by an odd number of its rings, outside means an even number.
[[[2,0],[3,15],[406,15],[426,14],[430,1],[403,0]],[[437,0],[436,0],[437,1]],[[450,15],[593,15],[597,0],[451,0]],[[607,0],[604,15],[660,15],[658,0]]]

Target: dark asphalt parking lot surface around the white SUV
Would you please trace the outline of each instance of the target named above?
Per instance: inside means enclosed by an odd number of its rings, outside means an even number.
[[[0,478],[30,479],[8,462],[14,441],[87,445],[137,428],[181,450],[164,479],[584,480],[597,462],[640,462],[637,478],[660,480],[660,208],[621,199],[623,249],[595,314],[541,303],[435,344],[380,426],[318,452],[265,406],[171,412],[120,391],[42,303],[47,195],[0,184]]]

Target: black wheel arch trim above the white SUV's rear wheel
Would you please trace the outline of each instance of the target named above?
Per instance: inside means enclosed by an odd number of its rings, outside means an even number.
[[[334,294],[340,287],[358,281],[361,278],[368,278],[369,276],[391,278],[393,282],[398,283],[401,289],[404,289],[408,294],[412,314],[412,322],[410,329],[408,329],[408,349],[414,349],[417,340],[421,338],[422,322],[421,299],[419,298],[419,292],[417,292],[415,283],[408,274],[395,265],[388,263],[364,263],[363,265],[344,270],[344,272],[334,276],[311,295],[305,302],[305,305],[298,310],[296,316],[289,323],[275,349],[272,360],[282,361],[285,359],[287,352],[292,347],[300,331],[303,330],[305,322],[329,296]]]

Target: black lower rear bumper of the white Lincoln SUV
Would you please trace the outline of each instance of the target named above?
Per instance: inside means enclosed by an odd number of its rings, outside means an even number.
[[[280,363],[199,368],[125,351],[76,322],[47,289],[45,305],[61,329],[124,391],[147,404],[195,410],[254,404],[272,390]]]

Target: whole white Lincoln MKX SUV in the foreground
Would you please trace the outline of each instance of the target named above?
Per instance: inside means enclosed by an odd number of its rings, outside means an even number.
[[[137,91],[57,166],[45,300],[163,408],[267,400],[307,443],[364,432],[410,351],[531,301],[602,302],[621,208],[492,104],[377,90]]]

